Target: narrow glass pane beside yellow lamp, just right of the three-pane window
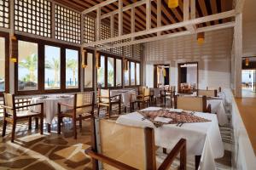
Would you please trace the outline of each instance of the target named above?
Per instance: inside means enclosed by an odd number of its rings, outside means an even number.
[[[87,53],[87,66],[84,68],[84,88],[93,88],[93,54]]]

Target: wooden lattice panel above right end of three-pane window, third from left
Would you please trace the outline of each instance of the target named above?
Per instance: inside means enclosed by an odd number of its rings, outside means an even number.
[[[81,42],[81,14],[55,5],[55,38],[73,43]]]

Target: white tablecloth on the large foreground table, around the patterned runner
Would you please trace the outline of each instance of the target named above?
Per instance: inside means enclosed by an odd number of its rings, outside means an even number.
[[[149,107],[144,111],[153,110],[157,111],[160,108]],[[182,127],[167,124],[156,128],[152,122],[142,120],[143,116],[137,112],[119,116],[116,122],[136,127],[153,127],[155,144],[171,150],[179,139],[187,139],[188,156],[201,155],[201,169],[215,169],[214,159],[224,156],[217,116],[200,112],[195,113],[195,116],[207,118],[211,122],[184,123]]]

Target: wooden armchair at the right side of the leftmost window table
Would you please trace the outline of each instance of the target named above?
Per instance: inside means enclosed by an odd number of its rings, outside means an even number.
[[[61,106],[67,107],[67,111],[61,111]],[[73,105],[66,103],[58,103],[58,134],[61,134],[61,122],[63,117],[69,117],[73,120],[73,136],[77,139],[77,122],[80,129],[82,128],[82,120],[89,119],[94,115],[94,93],[84,92],[74,94]]]

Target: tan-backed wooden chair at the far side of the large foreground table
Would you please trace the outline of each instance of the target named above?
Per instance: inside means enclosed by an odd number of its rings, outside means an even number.
[[[174,96],[174,108],[184,111],[200,111],[211,113],[211,105],[207,105],[207,96]]]

